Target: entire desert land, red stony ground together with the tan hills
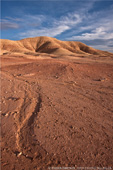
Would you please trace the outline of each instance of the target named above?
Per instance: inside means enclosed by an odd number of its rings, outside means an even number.
[[[112,53],[1,40],[1,96],[2,170],[113,166]]]

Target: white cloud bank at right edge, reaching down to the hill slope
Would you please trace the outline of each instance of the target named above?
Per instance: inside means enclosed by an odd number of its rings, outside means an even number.
[[[81,41],[94,48],[113,52],[113,8],[92,15],[84,13],[79,29],[75,27],[65,40]]]

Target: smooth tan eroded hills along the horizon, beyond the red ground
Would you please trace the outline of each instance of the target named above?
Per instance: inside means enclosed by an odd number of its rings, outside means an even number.
[[[60,41],[50,37],[26,38],[19,41],[1,40],[1,54],[7,52],[19,53],[47,53],[55,55],[73,54],[93,54],[93,55],[112,55],[109,52],[96,50],[81,42]]]

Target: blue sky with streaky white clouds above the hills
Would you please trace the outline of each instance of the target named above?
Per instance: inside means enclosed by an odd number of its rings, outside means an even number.
[[[113,0],[2,0],[1,38],[49,36],[113,52]]]

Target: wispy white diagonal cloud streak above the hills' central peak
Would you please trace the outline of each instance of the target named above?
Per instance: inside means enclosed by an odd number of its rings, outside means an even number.
[[[46,18],[45,21],[49,22],[50,18]],[[51,18],[52,22],[48,27],[39,27],[37,29],[30,29],[25,32],[19,33],[19,36],[21,38],[26,37],[35,37],[35,36],[50,36],[55,37],[57,35],[60,35],[61,33],[71,29],[75,25],[82,22],[82,17],[80,17],[78,14],[68,14],[67,16],[63,16],[60,19]]]

